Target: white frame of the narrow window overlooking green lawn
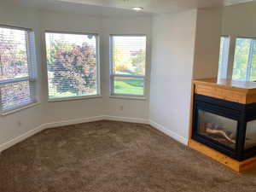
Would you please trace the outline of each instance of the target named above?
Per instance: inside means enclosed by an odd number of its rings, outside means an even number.
[[[146,55],[145,55],[145,75],[126,75],[126,74],[116,74],[113,73],[113,37],[145,37],[146,38]],[[148,36],[146,34],[110,34],[109,35],[109,76],[110,76],[110,97],[113,98],[130,98],[130,99],[138,99],[138,100],[144,100],[146,98],[146,79],[147,79],[147,55],[148,55]],[[114,83],[113,79],[115,77],[128,77],[128,78],[140,78],[143,79],[143,95],[137,95],[137,94],[119,94],[114,93]]]

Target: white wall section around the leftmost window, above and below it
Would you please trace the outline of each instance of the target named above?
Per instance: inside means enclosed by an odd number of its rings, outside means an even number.
[[[38,18],[38,12],[35,10],[14,8],[8,4],[1,4],[0,6],[0,24],[32,28],[36,33],[38,71],[41,71],[41,48],[38,44],[40,26]],[[41,73],[38,73],[38,84],[41,84]],[[38,89],[38,95],[41,97],[40,89]],[[43,108],[42,105],[39,104],[34,108],[27,108],[17,113],[0,116],[0,145],[41,125],[42,115]],[[19,125],[19,121],[21,125]]]

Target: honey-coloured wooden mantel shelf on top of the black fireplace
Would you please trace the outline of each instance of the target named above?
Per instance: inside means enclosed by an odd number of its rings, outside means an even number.
[[[193,80],[193,84],[196,94],[241,104],[256,102],[256,82],[241,82],[229,79],[197,79]]]

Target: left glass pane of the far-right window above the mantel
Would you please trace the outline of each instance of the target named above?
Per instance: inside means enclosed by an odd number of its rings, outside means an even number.
[[[250,51],[250,38],[236,38],[236,52],[232,79],[247,80],[247,64]]]

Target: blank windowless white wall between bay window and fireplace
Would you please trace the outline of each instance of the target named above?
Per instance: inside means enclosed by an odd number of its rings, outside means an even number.
[[[196,10],[153,19],[150,120],[186,143],[194,64]]]

